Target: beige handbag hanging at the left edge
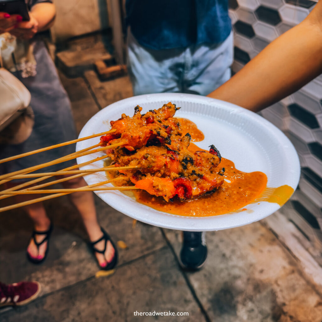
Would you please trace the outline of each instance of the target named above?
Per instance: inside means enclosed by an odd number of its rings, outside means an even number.
[[[24,84],[3,67],[0,51],[0,143],[19,144],[33,128],[31,95]]]

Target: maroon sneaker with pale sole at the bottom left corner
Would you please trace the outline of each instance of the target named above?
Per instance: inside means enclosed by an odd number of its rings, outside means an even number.
[[[0,308],[9,305],[25,305],[33,301],[39,292],[38,282],[0,283]]]

